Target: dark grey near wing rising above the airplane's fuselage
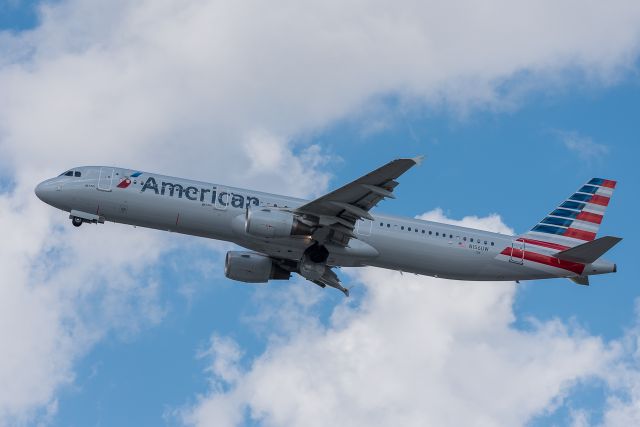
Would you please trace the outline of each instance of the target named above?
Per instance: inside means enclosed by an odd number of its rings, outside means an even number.
[[[420,164],[424,157],[396,159],[355,181],[315,199],[295,210],[299,215],[320,225],[314,238],[322,243],[331,241],[346,245],[360,219],[373,217],[369,213],[384,198],[395,198],[396,179]]]

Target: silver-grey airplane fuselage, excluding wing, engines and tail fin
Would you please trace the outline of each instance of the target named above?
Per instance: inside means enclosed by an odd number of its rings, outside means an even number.
[[[242,188],[136,172],[115,167],[75,168],[75,175],[41,183],[36,194],[70,212],[112,221],[233,242],[279,259],[300,260],[309,236],[264,238],[248,234],[248,208],[295,209],[306,200]],[[458,280],[527,280],[572,277],[575,272],[540,268],[509,252],[516,237],[415,218],[372,213],[356,223],[347,247],[329,246],[329,266],[376,266]],[[507,252],[505,252],[507,251]],[[502,256],[501,256],[502,254]],[[585,273],[614,270],[605,261]]]

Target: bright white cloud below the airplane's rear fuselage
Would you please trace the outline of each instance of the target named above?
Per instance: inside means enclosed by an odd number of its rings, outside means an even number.
[[[495,217],[459,223],[508,230]],[[296,321],[305,326],[284,329],[244,369],[237,344],[216,337],[207,371],[217,386],[184,408],[182,420],[198,426],[239,425],[245,417],[266,426],[524,425],[553,412],[581,382],[604,375],[618,354],[559,320],[514,327],[513,283],[379,269],[353,276],[367,291],[357,307],[337,306],[326,326],[302,308]],[[281,312],[290,320],[294,309]]]

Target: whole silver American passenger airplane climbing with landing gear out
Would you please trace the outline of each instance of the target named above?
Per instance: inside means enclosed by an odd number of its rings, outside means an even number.
[[[619,237],[596,238],[616,182],[593,178],[528,232],[511,236],[373,213],[422,157],[400,158],[315,200],[112,166],[83,166],[41,182],[35,194],[74,226],[111,221],[224,240],[224,274],[245,283],[292,273],[349,296],[336,269],[375,266],[467,281],[614,273],[602,256]]]

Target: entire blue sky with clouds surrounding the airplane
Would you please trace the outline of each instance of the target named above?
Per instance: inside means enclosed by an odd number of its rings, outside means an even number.
[[[640,424],[635,1],[0,0],[1,425]],[[33,194],[113,164],[523,233],[592,177],[618,273],[226,280],[233,245]]]

